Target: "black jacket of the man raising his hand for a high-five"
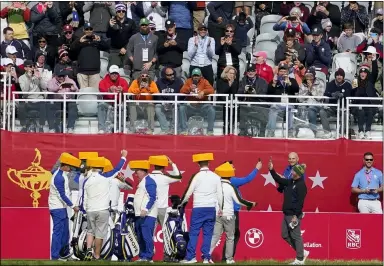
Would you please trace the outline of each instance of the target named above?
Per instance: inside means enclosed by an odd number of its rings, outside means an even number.
[[[303,213],[304,201],[307,196],[307,186],[304,179],[301,177],[295,181],[293,179],[281,178],[274,169],[269,172],[279,185],[285,186],[283,213],[300,217]]]

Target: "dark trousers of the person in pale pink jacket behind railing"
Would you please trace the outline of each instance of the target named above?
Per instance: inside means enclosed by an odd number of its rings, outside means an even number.
[[[74,128],[75,122],[77,119],[77,104],[74,102],[67,102],[67,128]],[[48,112],[48,125],[49,129],[54,129],[57,132],[61,132],[60,128],[60,122],[63,120],[62,114],[58,111],[63,111],[63,104],[62,103],[49,103],[47,106],[47,112]]]

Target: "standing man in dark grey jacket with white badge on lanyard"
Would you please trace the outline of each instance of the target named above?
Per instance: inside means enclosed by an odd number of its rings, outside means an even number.
[[[157,42],[158,37],[149,34],[149,20],[140,20],[140,32],[134,34],[127,46],[128,59],[132,63],[132,77],[137,79],[142,70],[146,70],[153,80],[155,78],[155,65],[157,62]]]

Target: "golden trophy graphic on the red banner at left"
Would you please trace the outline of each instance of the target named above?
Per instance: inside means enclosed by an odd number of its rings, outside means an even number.
[[[41,197],[40,191],[49,189],[52,174],[40,166],[41,153],[38,149],[35,149],[35,152],[35,159],[33,159],[27,169],[17,171],[16,169],[10,168],[8,169],[7,175],[13,183],[19,185],[22,189],[32,191],[32,206],[37,208],[39,207],[39,199]]]

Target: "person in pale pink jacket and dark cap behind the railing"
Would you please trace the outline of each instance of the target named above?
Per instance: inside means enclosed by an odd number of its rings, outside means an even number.
[[[79,91],[76,86],[76,82],[68,77],[68,72],[65,69],[57,69],[55,72],[55,77],[52,78],[47,85],[47,89],[50,92],[55,92],[57,95],[54,95],[53,98],[63,99],[65,92],[77,92]],[[50,95],[52,96],[52,95]],[[66,95],[67,99],[74,99],[74,95]],[[75,132],[75,122],[77,119],[77,103],[76,102],[67,102],[67,133]],[[57,111],[63,110],[63,104],[61,102],[48,103],[47,114],[48,114],[48,125],[50,133],[62,133],[61,120],[63,114]]]

